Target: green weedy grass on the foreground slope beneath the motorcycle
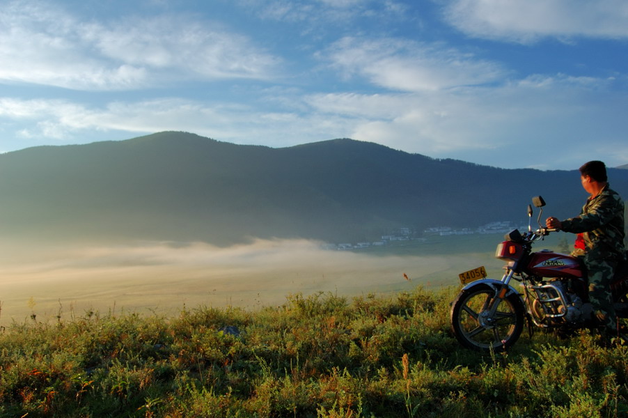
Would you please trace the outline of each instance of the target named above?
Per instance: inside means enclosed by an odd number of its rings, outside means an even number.
[[[0,333],[0,416],[627,416],[627,347],[537,333],[478,355],[449,331],[456,292],[14,322]]]

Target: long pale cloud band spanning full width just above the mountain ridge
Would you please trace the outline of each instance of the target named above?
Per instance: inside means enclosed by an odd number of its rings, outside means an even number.
[[[274,102],[263,100],[264,94]],[[573,142],[556,155],[556,162],[564,160],[567,167],[575,167],[571,160],[581,160],[592,139],[613,144],[615,165],[625,164],[621,158],[628,153],[625,139],[612,133],[626,130],[622,109],[628,99],[613,93],[612,81],[591,77],[535,75],[499,86],[410,93],[299,95],[272,89],[256,95],[262,105],[162,98],[94,107],[67,100],[0,99],[0,118],[22,121],[24,137],[65,141],[95,131],[132,137],[162,130],[276,147],[351,137],[476,162],[485,155],[512,154],[531,165],[544,144],[560,140]]]

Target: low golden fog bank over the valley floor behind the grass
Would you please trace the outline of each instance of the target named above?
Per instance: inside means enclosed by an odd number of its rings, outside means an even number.
[[[457,263],[464,270],[478,263],[469,259],[473,254],[359,254],[322,249],[308,240],[256,240],[224,248],[202,242],[36,248],[0,242],[0,253],[3,325],[31,320],[31,314],[37,320],[88,311],[175,315],[201,305],[281,305],[292,293],[356,296],[450,286],[456,284]]]

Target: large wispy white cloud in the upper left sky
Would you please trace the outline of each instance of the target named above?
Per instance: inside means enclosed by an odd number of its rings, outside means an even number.
[[[0,80],[120,90],[167,79],[267,79],[278,59],[251,40],[182,16],[81,22],[45,3],[0,9]]]

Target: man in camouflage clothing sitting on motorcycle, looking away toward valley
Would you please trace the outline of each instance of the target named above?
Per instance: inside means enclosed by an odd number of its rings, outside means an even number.
[[[549,217],[546,225],[577,233],[583,240],[580,251],[576,246],[576,254],[584,255],[593,320],[604,327],[607,335],[613,336],[618,334],[618,326],[611,298],[611,279],[625,257],[624,202],[609,187],[604,162],[587,162],[580,167],[580,178],[582,187],[590,194],[580,215],[562,222]]]

